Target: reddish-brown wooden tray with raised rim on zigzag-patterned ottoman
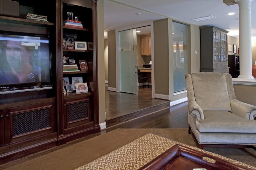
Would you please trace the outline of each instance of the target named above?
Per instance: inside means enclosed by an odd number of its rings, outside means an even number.
[[[205,168],[206,170],[251,170],[228,160],[179,144],[175,144],[139,170],[200,170],[200,168]]]

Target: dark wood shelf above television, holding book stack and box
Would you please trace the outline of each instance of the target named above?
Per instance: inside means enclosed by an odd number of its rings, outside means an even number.
[[[50,23],[50,22],[26,20],[22,18],[14,18],[14,17],[6,17],[6,16],[0,16],[0,21],[15,23],[15,24],[34,25],[34,26],[55,26],[54,23]]]

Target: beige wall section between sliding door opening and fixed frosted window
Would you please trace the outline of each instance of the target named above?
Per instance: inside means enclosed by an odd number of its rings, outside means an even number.
[[[153,22],[155,93],[169,95],[169,19]]]

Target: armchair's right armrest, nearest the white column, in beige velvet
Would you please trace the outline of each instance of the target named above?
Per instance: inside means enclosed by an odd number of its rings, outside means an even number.
[[[237,99],[230,99],[232,113],[241,118],[253,120],[256,117],[256,106],[241,102]]]

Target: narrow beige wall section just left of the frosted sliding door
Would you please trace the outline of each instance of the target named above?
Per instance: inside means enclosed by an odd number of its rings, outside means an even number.
[[[108,87],[116,88],[116,30],[108,31]]]

